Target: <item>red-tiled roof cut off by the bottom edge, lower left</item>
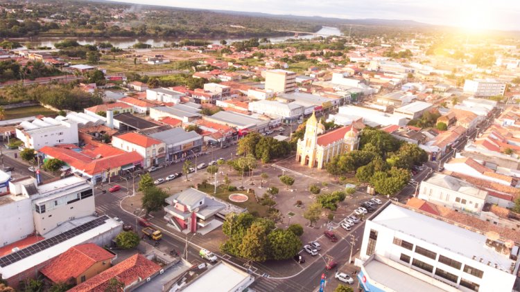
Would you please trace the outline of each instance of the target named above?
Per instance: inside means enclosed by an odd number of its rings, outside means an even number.
[[[108,282],[112,278],[123,282],[126,287],[139,280],[146,281],[146,278],[160,270],[161,266],[146,259],[146,257],[143,257],[142,255],[136,254],[78,286],[75,286],[69,291],[104,292],[107,289]]]

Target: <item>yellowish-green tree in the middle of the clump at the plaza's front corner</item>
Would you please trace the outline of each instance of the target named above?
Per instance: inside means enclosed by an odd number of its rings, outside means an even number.
[[[242,239],[240,255],[254,262],[264,262],[268,259],[268,230],[261,223],[254,222]],[[301,244],[300,244],[301,246]]]

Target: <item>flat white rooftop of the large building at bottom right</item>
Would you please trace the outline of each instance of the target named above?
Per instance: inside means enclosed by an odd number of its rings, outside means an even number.
[[[492,262],[509,271],[515,261],[509,255],[497,253],[486,245],[487,237],[461,226],[456,226],[435,216],[428,216],[391,203],[374,217],[372,222],[397,232],[410,235],[429,244],[458,253],[469,259],[476,256],[483,262]]]

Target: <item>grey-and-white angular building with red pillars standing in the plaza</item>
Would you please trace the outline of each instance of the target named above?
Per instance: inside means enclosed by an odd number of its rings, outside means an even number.
[[[225,209],[225,204],[200,190],[189,188],[164,201],[168,203],[164,207],[164,219],[179,231],[197,232],[205,228],[205,232],[209,232],[222,225],[222,221],[217,220],[215,215]]]

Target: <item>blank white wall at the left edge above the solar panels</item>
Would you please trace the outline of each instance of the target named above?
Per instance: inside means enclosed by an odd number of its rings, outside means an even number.
[[[0,205],[0,246],[24,239],[34,231],[31,199]]]

